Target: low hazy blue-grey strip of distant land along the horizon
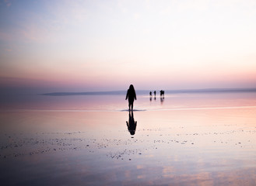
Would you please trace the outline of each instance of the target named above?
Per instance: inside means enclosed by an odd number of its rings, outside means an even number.
[[[149,94],[153,90],[138,90],[137,95]],[[166,94],[185,94],[185,93],[235,93],[235,92],[256,92],[256,88],[205,88],[205,89],[181,89],[166,90]],[[85,92],[51,92],[40,95],[67,96],[67,95],[124,95],[126,91],[85,91]],[[159,92],[157,91],[157,94]]]

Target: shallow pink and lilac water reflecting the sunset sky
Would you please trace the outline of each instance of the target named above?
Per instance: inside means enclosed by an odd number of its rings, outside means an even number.
[[[133,113],[124,95],[10,100],[3,185],[256,184],[253,92],[138,95]]]

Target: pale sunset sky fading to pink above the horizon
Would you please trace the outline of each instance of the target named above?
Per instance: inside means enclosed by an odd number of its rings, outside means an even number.
[[[0,0],[0,90],[256,88],[256,1]]]

